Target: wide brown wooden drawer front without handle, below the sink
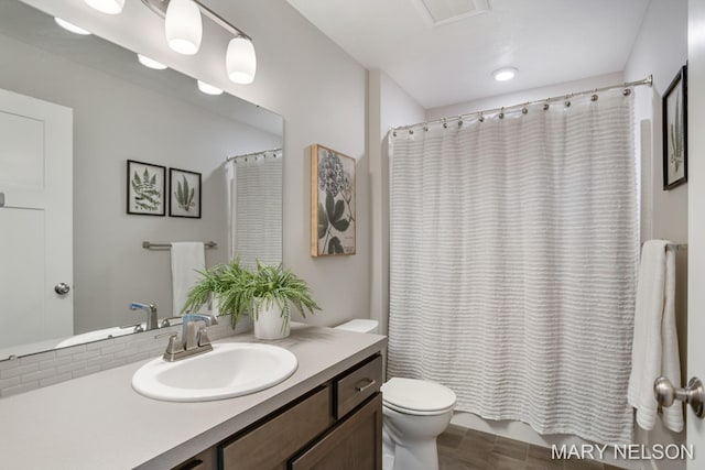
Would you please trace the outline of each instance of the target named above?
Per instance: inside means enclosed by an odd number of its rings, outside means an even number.
[[[218,446],[220,468],[276,468],[332,423],[330,387],[324,386],[243,436]]]

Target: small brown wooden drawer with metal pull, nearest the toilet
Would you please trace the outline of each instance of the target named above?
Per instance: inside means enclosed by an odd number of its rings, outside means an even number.
[[[335,417],[341,418],[382,386],[382,357],[376,356],[357,369],[334,380]]]

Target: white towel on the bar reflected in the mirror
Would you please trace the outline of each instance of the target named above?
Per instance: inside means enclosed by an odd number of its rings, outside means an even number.
[[[174,297],[174,316],[181,315],[181,309],[188,298],[188,292],[200,280],[196,272],[206,269],[206,255],[202,242],[172,243],[172,293]]]

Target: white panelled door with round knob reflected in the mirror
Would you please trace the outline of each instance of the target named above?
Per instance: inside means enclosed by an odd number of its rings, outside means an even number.
[[[73,334],[72,179],[73,111],[0,90],[0,349]]]

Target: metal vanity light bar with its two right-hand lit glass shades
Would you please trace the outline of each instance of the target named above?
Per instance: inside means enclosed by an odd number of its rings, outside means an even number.
[[[86,0],[88,1],[88,0]],[[182,54],[195,54],[203,36],[202,14],[231,33],[226,52],[226,72],[231,81],[248,85],[254,80],[257,55],[252,39],[234,26],[200,0],[142,0],[153,12],[165,18],[170,47]]]

